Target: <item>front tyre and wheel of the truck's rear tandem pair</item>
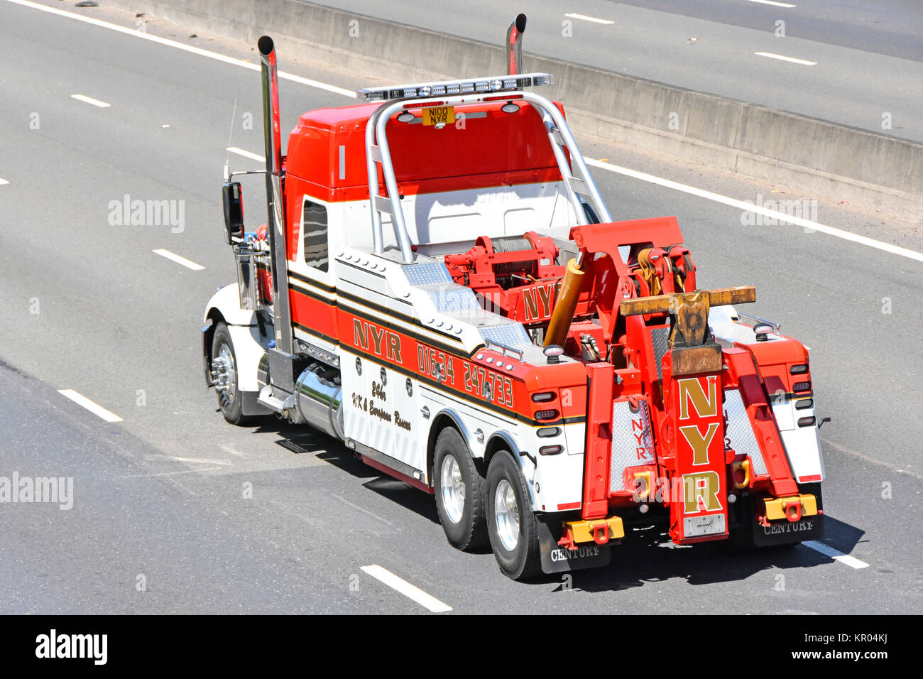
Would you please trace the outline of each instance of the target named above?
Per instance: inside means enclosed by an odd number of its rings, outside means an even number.
[[[433,455],[433,480],[439,523],[449,544],[462,551],[487,545],[484,478],[462,434],[452,427],[439,432]]]

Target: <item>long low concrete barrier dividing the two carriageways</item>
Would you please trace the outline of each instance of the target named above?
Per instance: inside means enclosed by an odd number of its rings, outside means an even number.
[[[253,44],[269,34],[283,69],[297,55],[394,83],[506,72],[505,26],[496,27],[489,36],[496,44],[488,44],[301,0],[107,4]],[[923,144],[528,51],[524,66],[555,74],[557,83],[546,93],[565,103],[578,134],[923,220]]]

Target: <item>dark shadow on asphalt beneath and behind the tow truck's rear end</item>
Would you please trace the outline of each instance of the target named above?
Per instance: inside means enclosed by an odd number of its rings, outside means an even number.
[[[846,524],[829,514],[824,516],[824,522],[822,541],[839,552],[848,554],[865,535],[862,528]],[[674,578],[683,578],[689,585],[711,585],[744,580],[766,572],[766,587],[773,588],[773,575],[780,571],[834,564],[833,558],[804,545],[750,552],[734,552],[721,542],[679,547],[659,528],[635,531],[629,537],[632,539],[612,548],[609,566],[575,572],[571,587],[585,591],[614,591],[651,587]],[[548,581],[559,579],[557,576]]]

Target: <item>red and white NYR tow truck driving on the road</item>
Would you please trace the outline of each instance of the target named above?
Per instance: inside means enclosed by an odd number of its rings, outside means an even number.
[[[259,39],[268,227],[225,168],[238,280],[202,333],[224,418],[341,439],[517,579],[608,564],[638,522],[818,539],[806,347],[736,310],[752,287],[698,289],[676,217],[613,221],[524,28],[509,73],[360,90],[284,154]]]

